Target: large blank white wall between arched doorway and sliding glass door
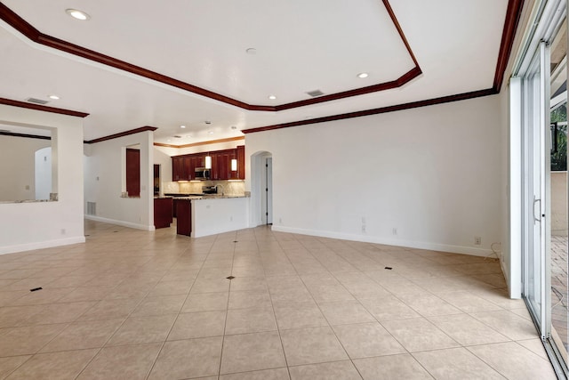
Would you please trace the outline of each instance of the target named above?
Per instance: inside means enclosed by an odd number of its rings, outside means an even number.
[[[500,105],[488,96],[250,133],[247,166],[272,154],[274,230],[487,255],[501,241]]]

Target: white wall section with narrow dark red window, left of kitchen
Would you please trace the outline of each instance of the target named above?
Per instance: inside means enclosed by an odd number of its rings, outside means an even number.
[[[121,198],[125,175],[122,151],[140,144],[140,198]],[[140,230],[154,230],[153,135],[149,131],[85,146],[86,202],[96,203],[96,215],[85,217]]]

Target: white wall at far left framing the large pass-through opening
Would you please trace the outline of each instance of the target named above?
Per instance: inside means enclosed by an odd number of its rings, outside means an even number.
[[[0,254],[84,242],[83,119],[0,105],[0,122],[55,128],[59,193],[56,202],[0,204]]]

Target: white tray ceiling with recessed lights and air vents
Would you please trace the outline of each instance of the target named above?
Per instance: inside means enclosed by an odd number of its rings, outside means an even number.
[[[329,94],[377,85],[414,67],[381,0],[2,3],[45,35],[254,105],[303,101],[316,89]],[[507,0],[389,4],[423,74],[388,91],[250,111],[33,43],[0,20],[0,97],[49,100],[57,94],[60,100],[48,106],[90,114],[85,140],[151,125],[158,128],[156,142],[180,145],[492,87]],[[68,8],[91,20],[70,18]],[[360,79],[360,72],[370,75]]]

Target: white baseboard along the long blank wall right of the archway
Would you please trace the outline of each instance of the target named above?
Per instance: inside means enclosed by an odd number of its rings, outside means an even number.
[[[290,232],[299,235],[318,236],[321,238],[342,239],[352,241],[362,241],[365,243],[385,244],[388,246],[408,247],[417,249],[429,249],[432,251],[449,252],[453,254],[474,255],[485,257],[492,254],[492,249],[452,246],[449,244],[428,243],[422,241],[385,239],[377,236],[357,235],[326,230],[305,230],[294,227],[277,226],[273,224],[272,230],[279,232]]]

